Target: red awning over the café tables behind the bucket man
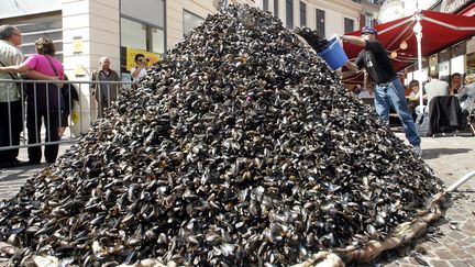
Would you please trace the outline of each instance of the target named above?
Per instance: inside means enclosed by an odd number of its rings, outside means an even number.
[[[388,55],[397,53],[391,58],[393,66],[400,71],[418,60],[417,38],[413,32],[416,15],[406,16],[396,21],[376,25],[378,31],[377,40],[386,48]],[[463,40],[475,35],[475,18],[459,14],[441,13],[423,10],[420,12],[422,25],[422,56],[430,56],[446,47],[450,47]],[[360,31],[347,33],[346,35],[360,36]],[[407,43],[407,48],[402,49],[402,42]],[[344,43],[343,46],[347,57],[355,59],[362,47]],[[346,68],[343,69],[343,81],[362,82],[363,75],[352,75],[345,77]]]

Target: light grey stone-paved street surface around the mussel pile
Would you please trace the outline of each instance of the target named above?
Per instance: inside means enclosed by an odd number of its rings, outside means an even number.
[[[405,140],[402,133],[397,133],[397,136]],[[67,147],[67,145],[62,146],[60,153]],[[446,187],[475,170],[475,136],[471,134],[423,137],[422,149],[423,159]],[[19,158],[27,159],[25,148],[21,149]],[[0,200],[13,197],[29,177],[46,166],[43,164],[34,167],[0,169]],[[422,236],[415,244],[395,249],[377,263],[391,267],[424,265],[475,267],[475,177],[459,187],[453,199],[444,215],[432,225],[437,227],[437,233],[441,233],[440,235],[433,238]],[[0,266],[5,265],[4,260],[0,258]]]

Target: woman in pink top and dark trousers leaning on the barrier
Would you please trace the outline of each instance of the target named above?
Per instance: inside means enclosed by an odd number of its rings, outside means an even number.
[[[24,63],[18,66],[0,68],[3,73],[24,73],[36,70],[40,74],[49,76],[51,79],[64,79],[63,64],[54,57],[55,46],[52,40],[40,37],[35,41],[36,53]],[[27,84],[26,86],[26,129],[29,144],[41,142],[42,119],[46,127],[46,142],[59,141],[58,127],[60,113],[65,102],[58,85],[53,84]],[[54,163],[58,154],[58,144],[45,146],[46,163]],[[38,164],[42,158],[40,146],[27,148],[30,164]]]

